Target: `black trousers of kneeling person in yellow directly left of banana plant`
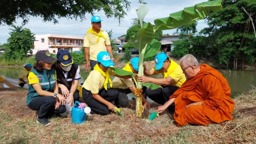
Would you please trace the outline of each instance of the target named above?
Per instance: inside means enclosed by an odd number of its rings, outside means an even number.
[[[113,102],[118,97],[118,91],[116,89],[110,88],[106,90],[103,88],[98,92],[98,95],[100,95],[102,98],[104,98],[108,102]],[[91,93],[91,91],[83,88],[82,96],[83,96],[83,101],[87,103],[88,107],[91,108],[91,114],[107,115],[110,113],[108,106],[95,100],[93,98],[93,94]]]

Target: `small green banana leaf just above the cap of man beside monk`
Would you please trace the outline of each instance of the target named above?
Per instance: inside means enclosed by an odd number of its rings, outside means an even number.
[[[161,42],[156,39],[153,39],[146,48],[144,59],[154,56],[158,50],[161,48]]]

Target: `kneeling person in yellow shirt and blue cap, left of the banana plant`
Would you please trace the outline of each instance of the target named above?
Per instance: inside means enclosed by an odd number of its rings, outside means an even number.
[[[94,70],[90,72],[82,85],[83,101],[91,108],[91,114],[106,115],[110,111],[115,113],[115,105],[112,102],[117,99],[119,92],[113,88],[107,89],[108,81],[110,87],[112,86],[110,75],[119,78],[131,78],[131,76],[119,76],[110,70],[109,66],[113,65],[115,63],[111,61],[109,53],[100,52],[97,55],[97,64]]]

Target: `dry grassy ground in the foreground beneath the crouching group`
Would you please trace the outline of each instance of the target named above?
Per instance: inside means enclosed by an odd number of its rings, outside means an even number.
[[[164,112],[152,122],[148,116],[159,106],[145,110],[143,119],[135,118],[135,101],[118,114],[92,114],[83,124],[72,124],[71,118],[50,119],[50,126],[36,123],[36,113],[26,106],[28,90],[0,89],[0,143],[247,143],[256,141],[256,90],[234,99],[233,120],[222,124],[177,127],[173,116]]]

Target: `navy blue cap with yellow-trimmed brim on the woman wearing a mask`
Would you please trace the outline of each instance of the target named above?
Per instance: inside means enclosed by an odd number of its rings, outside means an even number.
[[[68,66],[74,63],[70,53],[67,50],[59,50],[57,52],[57,59],[63,66]]]

